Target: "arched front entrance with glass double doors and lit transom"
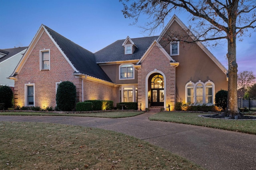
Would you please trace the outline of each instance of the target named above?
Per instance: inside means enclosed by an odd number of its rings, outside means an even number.
[[[164,77],[161,74],[151,79],[150,102],[152,106],[164,106]]]

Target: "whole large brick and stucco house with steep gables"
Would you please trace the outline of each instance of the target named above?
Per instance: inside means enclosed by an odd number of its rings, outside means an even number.
[[[187,34],[173,16],[160,36],[118,40],[91,53],[41,25],[16,70],[15,105],[56,106],[58,84],[71,81],[78,101],[138,102],[142,110],[175,102],[214,104],[228,89],[226,68],[202,45],[166,43],[169,31]]]

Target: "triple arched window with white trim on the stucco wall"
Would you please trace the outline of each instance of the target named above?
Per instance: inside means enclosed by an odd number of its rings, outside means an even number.
[[[190,104],[208,104],[213,105],[214,101],[214,83],[208,82],[196,83],[190,81],[186,84],[186,103]]]

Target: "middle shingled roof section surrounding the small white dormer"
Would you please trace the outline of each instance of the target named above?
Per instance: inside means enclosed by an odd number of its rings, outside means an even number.
[[[152,44],[154,39],[157,39],[158,36],[153,37],[142,37],[142,38],[132,38],[132,41],[138,47],[133,54],[125,55],[124,47],[122,43],[125,39],[118,40],[104,49],[94,53],[95,60],[97,63],[108,63],[114,61],[129,61],[129,60],[139,60],[143,54],[146,52],[148,47]]]

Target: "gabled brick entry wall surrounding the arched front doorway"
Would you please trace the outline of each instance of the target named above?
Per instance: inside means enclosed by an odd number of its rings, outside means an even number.
[[[154,71],[156,69],[156,71]],[[142,110],[145,110],[146,100],[148,100],[148,96],[146,96],[146,86],[148,84],[146,81],[146,76],[149,72],[162,72],[166,77],[166,82],[164,82],[164,86],[166,87],[166,106],[170,104],[171,109],[174,110],[175,103],[175,68],[170,65],[170,60],[162,53],[162,51],[155,44],[152,47],[150,53],[145,57],[144,61],[141,63],[141,68],[138,70],[138,105],[142,104]]]

